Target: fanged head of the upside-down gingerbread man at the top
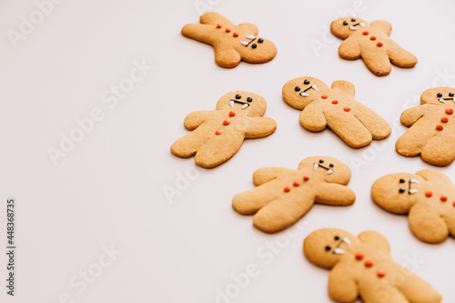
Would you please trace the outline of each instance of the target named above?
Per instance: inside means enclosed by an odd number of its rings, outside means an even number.
[[[277,46],[273,42],[255,35],[239,39],[235,48],[242,60],[248,63],[268,62],[277,55]]]

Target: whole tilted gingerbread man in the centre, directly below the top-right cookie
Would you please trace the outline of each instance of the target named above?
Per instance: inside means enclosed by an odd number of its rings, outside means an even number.
[[[386,120],[354,99],[348,81],[335,81],[330,89],[319,79],[301,76],[288,81],[282,93],[289,106],[302,109],[302,126],[311,131],[329,126],[349,146],[368,146],[390,135]]]

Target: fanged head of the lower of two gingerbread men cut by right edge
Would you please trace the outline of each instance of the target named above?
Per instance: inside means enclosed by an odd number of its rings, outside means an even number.
[[[371,197],[380,206],[405,214],[425,195],[425,190],[420,189],[422,182],[422,177],[405,173],[379,177],[371,187]]]

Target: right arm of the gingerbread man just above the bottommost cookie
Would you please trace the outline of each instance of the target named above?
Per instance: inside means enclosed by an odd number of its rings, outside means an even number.
[[[347,206],[355,200],[356,194],[344,185],[321,183],[317,187],[315,201],[320,204]]]

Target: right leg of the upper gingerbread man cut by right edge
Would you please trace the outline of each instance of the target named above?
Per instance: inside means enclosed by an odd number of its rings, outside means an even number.
[[[448,166],[455,159],[455,136],[433,136],[421,151],[422,159],[435,166]]]

